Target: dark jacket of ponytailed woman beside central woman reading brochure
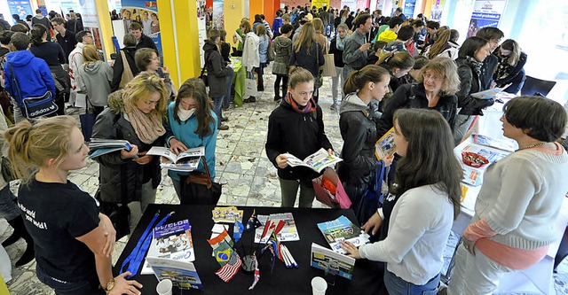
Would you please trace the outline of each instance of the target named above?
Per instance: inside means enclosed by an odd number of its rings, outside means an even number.
[[[377,123],[374,112],[356,93],[348,94],[339,107],[339,130],[343,138],[343,161],[337,164],[339,179],[352,186],[370,182],[379,139]]]

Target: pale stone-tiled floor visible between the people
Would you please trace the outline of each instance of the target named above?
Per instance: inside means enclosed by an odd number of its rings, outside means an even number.
[[[264,73],[271,73],[270,70]],[[280,206],[280,183],[276,169],[266,159],[264,142],[268,116],[276,106],[273,102],[272,74],[264,75],[265,91],[256,103],[246,104],[225,112],[229,117],[228,131],[220,131],[217,136],[217,181],[224,183],[223,196],[219,205],[234,206]],[[331,105],[330,81],[324,82],[319,103],[323,109],[323,120],[326,126],[327,137],[336,151],[342,148],[343,140],[339,132],[339,116],[335,111],[329,110]],[[73,110],[73,113],[79,113]],[[98,186],[99,165],[89,162],[87,167],[75,171],[69,177],[71,181],[81,186],[83,190],[94,194]],[[17,191],[17,183],[12,183],[12,190]],[[158,203],[176,204],[176,193],[171,185],[170,178],[162,178],[158,188]],[[321,206],[315,201],[314,206]],[[0,220],[0,240],[10,235],[12,229],[4,219]],[[113,262],[117,260],[125,245],[125,238],[116,243]],[[12,263],[17,260],[23,250],[25,242],[20,240],[15,245],[6,248]],[[36,262],[31,262],[22,268],[12,268],[12,281],[8,287],[12,295],[53,294],[50,288],[40,283],[35,275]],[[559,268],[556,277],[557,294],[568,294],[568,264]]]

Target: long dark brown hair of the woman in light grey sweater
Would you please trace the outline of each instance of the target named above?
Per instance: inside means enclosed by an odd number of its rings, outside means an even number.
[[[397,131],[408,142],[406,156],[397,164],[393,193],[401,196],[406,190],[432,185],[447,194],[448,201],[454,205],[455,219],[460,213],[463,170],[454,157],[450,125],[434,110],[399,109],[393,118],[400,128]]]

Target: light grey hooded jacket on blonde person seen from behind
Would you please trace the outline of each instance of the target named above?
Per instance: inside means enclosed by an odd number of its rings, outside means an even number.
[[[105,106],[110,94],[113,69],[104,61],[83,64],[79,68],[77,87],[87,92],[89,102],[94,106]]]

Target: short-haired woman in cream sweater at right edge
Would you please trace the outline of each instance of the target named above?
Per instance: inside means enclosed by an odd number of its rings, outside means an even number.
[[[566,112],[545,97],[513,98],[503,112],[503,135],[519,148],[485,171],[448,294],[492,294],[503,274],[531,268],[556,240],[568,191],[568,155],[556,143]]]

